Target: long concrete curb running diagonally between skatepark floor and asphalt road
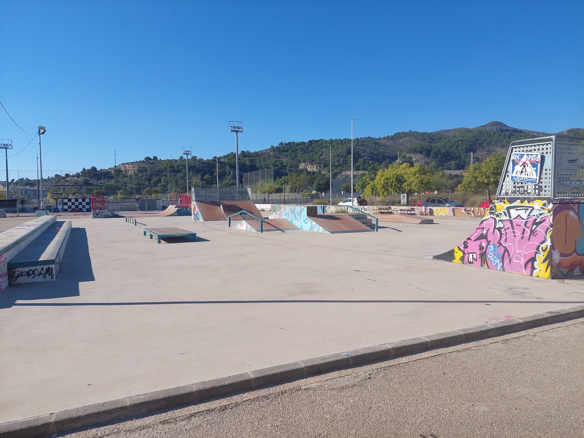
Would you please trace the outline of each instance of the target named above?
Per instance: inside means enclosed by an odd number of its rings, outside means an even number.
[[[288,363],[192,385],[148,392],[147,394],[134,395],[133,397],[83,406],[82,408],[67,409],[67,411],[1,423],[0,437],[36,438],[64,432],[65,430],[78,429],[79,427],[97,425],[111,420],[127,419],[161,409],[193,404],[208,398],[221,397],[234,392],[311,376],[312,374],[419,353],[423,350],[492,338],[493,336],[506,335],[582,317],[584,317],[584,305],[510,319],[505,322],[478,325],[437,335],[423,336],[422,338],[361,348],[346,353],[331,354],[330,356]]]

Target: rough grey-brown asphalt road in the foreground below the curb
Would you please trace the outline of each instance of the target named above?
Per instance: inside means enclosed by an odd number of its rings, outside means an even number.
[[[68,436],[584,436],[584,319]]]

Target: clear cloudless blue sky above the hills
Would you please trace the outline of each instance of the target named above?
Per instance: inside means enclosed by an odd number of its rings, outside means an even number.
[[[350,137],[352,118],[356,137],[492,120],[584,127],[584,2],[0,8],[0,100],[26,131],[47,127],[45,174],[108,168],[114,149],[118,163],[176,158],[183,146],[224,155],[235,149],[229,120],[244,124],[242,150]],[[32,136],[1,113],[0,138],[16,154]],[[37,148],[9,158],[9,169],[36,169]]]

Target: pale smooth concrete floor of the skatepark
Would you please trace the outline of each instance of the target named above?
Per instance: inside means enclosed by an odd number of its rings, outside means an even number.
[[[584,303],[582,280],[422,257],[466,218],[335,235],[139,219],[199,237],[172,244],[68,219],[58,279],[0,294],[0,422]]]

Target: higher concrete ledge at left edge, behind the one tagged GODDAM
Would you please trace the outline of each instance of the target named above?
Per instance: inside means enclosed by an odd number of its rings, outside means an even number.
[[[0,233],[0,292],[9,284],[8,262],[55,221],[57,216],[44,215]]]

